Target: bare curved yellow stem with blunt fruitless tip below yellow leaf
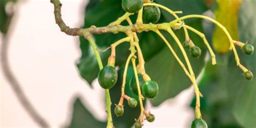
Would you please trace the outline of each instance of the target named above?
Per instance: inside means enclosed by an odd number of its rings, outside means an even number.
[[[211,54],[211,57],[212,57],[212,65],[215,65],[215,64],[216,64],[215,54],[214,54],[214,52],[213,52],[213,50],[212,50],[210,44],[208,43],[207,39],[205,38],[204,33],[200,32],[200,31],[198,31],[198,30],[196,30],[196,29],[194,29],[194,28],[192,28],[191,26],[188,26],[188,25],[184,25],[184,27],[186,27],[187,29],[193,31],[194,33],[196,33],[197,35],[199,35],[199,36],[203,39],[205,45],[207,46],[207,48],[208,48],[208,50],[209,50],[209,52],[210,52],[210,54]]]

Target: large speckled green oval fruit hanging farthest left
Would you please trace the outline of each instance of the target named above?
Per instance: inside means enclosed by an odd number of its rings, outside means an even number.
[[[117,70],[113,66],[104,66],[104,68],[99,71],[98,81],[103,89],[110,89],[117,83]]]

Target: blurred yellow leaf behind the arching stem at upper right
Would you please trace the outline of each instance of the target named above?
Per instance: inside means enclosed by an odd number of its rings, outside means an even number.
[[[218,7],[215,10],[215,18],[218,22],[223,24],[232,38],[238,40],[238,11],[240,8],[241,0],[217,0]],[[230,41],[228,40],[225,32],[216,26],[212,42],[213,48],[218,53],[227,53],[230,50]]]

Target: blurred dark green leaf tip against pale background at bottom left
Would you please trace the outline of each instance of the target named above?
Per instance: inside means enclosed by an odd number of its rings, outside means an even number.
[[[105,127],[106,123],[100,122],[95,119],[92,114],[84,107],[79,98],[75,99],[73,103],[72,120],[68,127],[80,128],[80,127]]]

